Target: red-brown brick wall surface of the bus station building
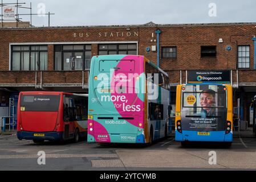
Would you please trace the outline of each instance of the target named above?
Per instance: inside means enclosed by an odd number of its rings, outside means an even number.
[[[160,67],[169,73],[170,82],[180,82],[180,70],[182,70],[182,82],[185,82],[185,70],[235,70],[237,68],[237,45],[250,46],[250,68],[241,72],[242,75],[239,76],[239,81],[256,82],[256,77],[251,76],[255,75],[255,71],[253,71],[254,45],[253,40],[251,40],[251,38],[256,35],[254,24],[141,26],[128,28],[129,30],[127,30],[127,27],[0,29],[0,71],[9,70],[9,43],[48,43],[48,71],[54,70],[53,42],[136,41],[139,43],[139,55],[145,55],[149,60],[156,63],[157,52],[147,52],[145,48],[156,46],[155,30],[159,28],[161,30],[160,51],[161,47],[177,47],[176,59],[162,59],[160,53]],[[105,34],[105,32],[107,32],[107,34]],[[223,39],[223,43],[218,42],[220,38]],[[226,51],[225,48],[227,45],[231,46],[231,51]],[[201,58],[201,46],[216,46],[216,58]],[[98,43],[93,43],[92,56],[97,55],[97,48]],[[59,73],[56,73],[56,78],[52,76],[54,74],[55,72],[49,73],[49,75],[51,75],[49,79],[56,80]],[[74,75],[76,75],[76,73],[74,73]],[[2,78],[3,77],[1,77],[1,79]],[[9,82],[15,82],[15,79],[16,78],[10,76]],[[59,79],[61,80],[62,78],[59,77]],[[5,80],[5,78],[3,78],[3,80]],[[0,80],[0,82],[3,82],[3,80]],[[69,81],[72,82],[74,80],[70,78]]]

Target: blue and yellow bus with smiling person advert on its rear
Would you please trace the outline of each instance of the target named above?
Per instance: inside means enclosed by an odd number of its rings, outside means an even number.
[[[187,142],[233,141],[232,86],[193,83],[177,86],[175,140]]]

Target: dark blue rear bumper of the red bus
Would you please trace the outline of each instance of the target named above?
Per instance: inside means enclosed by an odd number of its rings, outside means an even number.
[[[36,135],[38,137],[36,137]],[[62,140],[63,132],[31,132],[31,131],[17,131],[17,137],[19,140]]]

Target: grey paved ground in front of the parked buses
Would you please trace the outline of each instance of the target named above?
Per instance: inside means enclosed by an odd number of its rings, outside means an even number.
[[[246,135],[247,132],[247,135]],[[0,170],[230,170],[256,169],[256,138],[244,131],[234,133],[231,147],[194,143],[186,147],[174,141],[173,134],[152,146],[18,140],[0,135]],[[39,165],[38,151],[46,154]],[[215,151],[216,164],[209,164],[209,152]]]

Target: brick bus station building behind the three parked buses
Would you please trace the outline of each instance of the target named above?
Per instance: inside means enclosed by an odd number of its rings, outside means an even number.
[[[155,24],[81,27],[0,28],[0,103],[22,90],[86,93],[94,55],[137,54],[168,72],[172,88],[187,72],[230,71],[234,106],[241,98],[242,119],[250,120],[256,95],[256,23]]]

